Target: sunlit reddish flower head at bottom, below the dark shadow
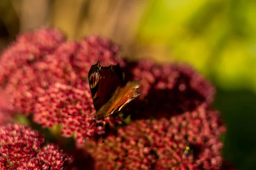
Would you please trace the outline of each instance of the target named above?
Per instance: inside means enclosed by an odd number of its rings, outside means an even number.
[[[225,131],[219,116],[202,104],[171,119],[135,120],[108,136],[105,145],[89,140],[85,149],[96,169],[219,169]],[[188,142],[193,152],[183,155]]]

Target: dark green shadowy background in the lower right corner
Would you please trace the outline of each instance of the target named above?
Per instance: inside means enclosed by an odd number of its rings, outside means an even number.
[[[256,169],[256,94],[253,91],[217,89],[214,107],[227,126],[224,159],[239,170]]]

